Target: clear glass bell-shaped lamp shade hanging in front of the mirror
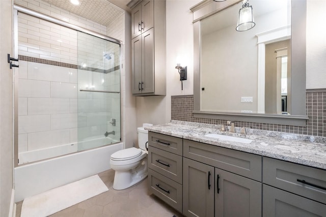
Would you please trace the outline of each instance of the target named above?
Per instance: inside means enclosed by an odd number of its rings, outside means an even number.
[[[256,25],[253,16],[253,7],[249,3],[243,2],[242,8],[239,10],[238,25],[235,28],[238,32],[247,31]]]

